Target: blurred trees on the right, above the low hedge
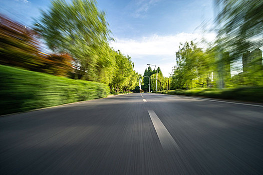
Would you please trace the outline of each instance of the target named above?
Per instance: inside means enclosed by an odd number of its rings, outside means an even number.
[[[217,37],[208,49],[185,42],[176,52],[174,89],[262,85],[263,1],[215,0]],[[231,77],[231,65],[242,61]],[[240,66],[239,66],[240,67]]]

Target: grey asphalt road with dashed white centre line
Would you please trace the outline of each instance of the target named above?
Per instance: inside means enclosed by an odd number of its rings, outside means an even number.
[[[263,107],[133,93],[0,117],[1,174],[263,174]]]

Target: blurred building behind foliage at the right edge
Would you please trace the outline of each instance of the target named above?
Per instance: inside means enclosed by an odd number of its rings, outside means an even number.
[[[243,72],[263,69],[262,51],[259,48],[246,51],[242,56]]]

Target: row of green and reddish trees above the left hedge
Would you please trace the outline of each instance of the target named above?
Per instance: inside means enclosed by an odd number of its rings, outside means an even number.
[[[95,0],[53,0],[34,27],[0,18],[0,64],[102,82],[116,93],[142,79],[131,57],[109,46],[114,39]]]

